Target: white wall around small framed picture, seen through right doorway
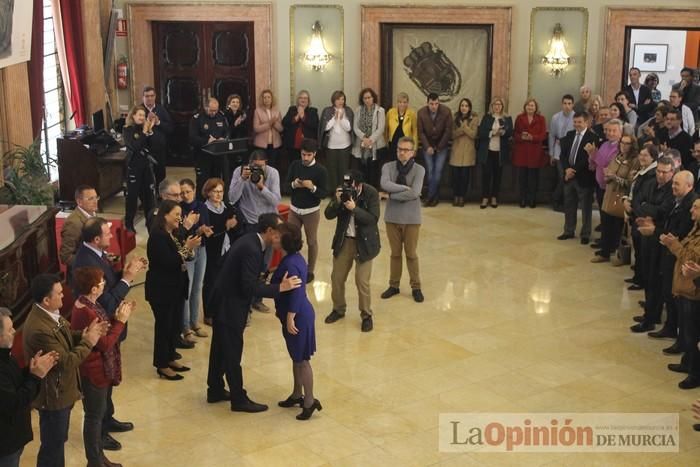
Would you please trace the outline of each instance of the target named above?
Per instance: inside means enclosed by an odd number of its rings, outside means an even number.
[[[630,35],[630,66],[632,65],[632,54],[634,44],[668,44],[666,72],[655,71],[659,76],[659,86],[661,98],[668,99],[671,92],[671,85],[680,80],[681,68],[685,60],[685,31],[671,31],[658,29],[632,29]],[[647,72],[642,71],[642,83]]]

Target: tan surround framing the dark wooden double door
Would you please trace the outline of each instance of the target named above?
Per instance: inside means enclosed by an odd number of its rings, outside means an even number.
[[[272,87],[272,5],[254,4],[128,4],[131,98],[154,82],[151,24],[154,21],[252,21],[255,50],[255,95]]]

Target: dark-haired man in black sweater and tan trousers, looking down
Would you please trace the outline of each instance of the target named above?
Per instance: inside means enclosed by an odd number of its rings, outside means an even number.
[[[287,173],[287,183],[292,186],[292,203],[289,207],[289,223],[304,226],[309,253],[309,269],[306,281],[314,280],[314,267],[318,256],[318,224],[321,221],[321,200],[328,196],[326,168],[316,160],[318,143],[315,139],[301,141],[301,160],[292,161]]]

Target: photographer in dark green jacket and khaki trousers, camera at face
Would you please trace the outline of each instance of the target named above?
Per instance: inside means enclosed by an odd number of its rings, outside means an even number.
[[[333,311],[326,323],[335,323],[345,317],[345,281],[355,263],[355,285],[359,295],[362,332],[373,328],[369,281],[372,260],[379,254],[379,193],[363,183],[362,173],[351,170],[343,176],[343,184],[335,190],[324,215],[338,219],[333,236],[333,271],[331,272],[331,299]]]

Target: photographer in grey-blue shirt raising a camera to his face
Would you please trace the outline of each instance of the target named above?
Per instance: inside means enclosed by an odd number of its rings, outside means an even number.
[[[280,174],[277,169],[267,165],[267,153],[264,150],[254,150],[250,155],[250,164],[236,167],[233,171],[228,199],[231,205],[238,205],[241,235],[257,231],[261,214],[277,212],[277,205],[282,199]],[[265,250],[266,266],[271,259],[272,249],[268,248]],[[263,313],[269,311],[262,303],[262,298],[254,299],[252,308]]]

